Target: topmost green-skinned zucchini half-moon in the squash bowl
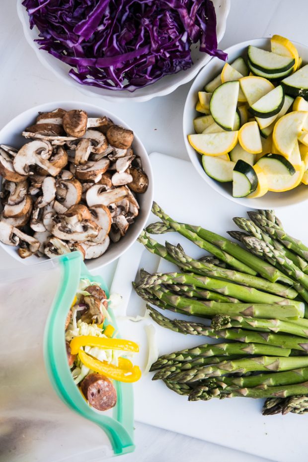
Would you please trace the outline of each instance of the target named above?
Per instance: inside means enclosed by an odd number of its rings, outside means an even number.
[[[295,65],[294,58],[276,55],[276,53],[252,45],[248,46],[248,59],[254,68],[267,74],[285,72]]]

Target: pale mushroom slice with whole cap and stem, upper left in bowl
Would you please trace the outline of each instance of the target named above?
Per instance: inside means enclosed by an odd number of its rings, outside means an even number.
[[[49,153],[50,147],[50,143],[38,140],[23,145],[13,160],[15,171],[23,175],[33,174],[30,165],[38,165],[47,170],[52,176],[56,176],[59,173],[59,169],[40,155]]]

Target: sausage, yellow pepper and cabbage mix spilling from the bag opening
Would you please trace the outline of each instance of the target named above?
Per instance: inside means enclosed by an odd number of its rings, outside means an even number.
[[[81,279],[65,324],[68,364],[89,405],[106,411],[117,402],[113,380],[136,382],[138,366],[124,358],[139,351],[137,343],[116,337],[108,324],[108,300],[98,283]]]

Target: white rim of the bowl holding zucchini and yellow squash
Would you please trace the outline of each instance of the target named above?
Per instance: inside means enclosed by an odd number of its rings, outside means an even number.
[[[254,38],[254,39],[248,39],[248,40],[244,40],[242,42],[239,42],[239,43],[235,43],[233,45],[231,45],[230,47],[226,48],[224,51],[228,54],[231,54],[233,51],[237,51],[238,52],[238,56],[240,56],[240,54],[246,49],[246,47],[248,45],[253,45],[255,43],[259,43],[261,41],[266,41],[268,42],[269,40],[271,39],[271,37],[258,37],[258,38]],[[300,42],[297,42],[297,41],[294,41],[292,40],[292,43],[296,46],[300,46],[300,47],[304,47],[304,48],[307,48],[308,50],[308,46],[303,44],[303,43],[300,43]],[[196,81],[201,77],[203,76],[204,74],[206,74],[207,72],[207,68],[209,65],[213,65],[213,63],[217,63],[221,60],[219,60],[219,58],[217,57],[213,57],[205,66],[203,69],[201,69],[201,71],[199,72],[198,76],[196,77],[196,79],[192,82],[191,84],[191,87],[187,93],[187,96],[186,96],[186,100],[185,100],[185,104],[184,104],[184,109],[183,109],[183,124],[182,124],[182,128],[183,128],[183,138],[184,138],[184,144],[185,144],[185,148],[186,148],[186,152],[189,156],[189,159],[190,161],[192,162],[193,166],[195,167],[196,171],[198,172],[198,174],[203,178],[203,180],[212,188],[214,189],[217,193],[219,193],[220,195],[222,195],[223,197],[225,197],[226,199],[230,200],[231,202],[234,202],[236,204],[240,204],[244,207],[247,207],[247,208],[254,208],[254,209],[257,209],[257,208],[260,208],[256,203],[254,205],[254,201],[255,199],[248,199],[248,198],[236,198],[236,197],[233,197],[228,191],[226,191],[225,189],[223,189],[219,182],[216,182],[213,178],[209,177],[205,171],[203,170],[203,168],[201,167],[201,164],[200,162],[198,161],[198,155],[201,155],[201,154],[198,154],[189,144],[188,140],[187,140],[187,112],[189,110],[189,105],[191,103],[191,100],[192,100],[192,97],[193,97],[193,94],[195,93],[196,91],[196,88],[195,88],[195,84],[196,84]],[[228,62],[228,61],[227,61]],[[205,79],[206,80],[206,79]],[[287,191],[288,192],[288,191]],[[275,194],[275,193],[273,193]],[[243,201],[245,201],[245,203],[243,203]],[[285,204],[283,203],[283,200],[281,200],[281,205],[276,205],[275,204],[275,209],[278,209],[280,207],[292,207],[294,205],[297,205],[297,204],[303,204],[305,202],[308,201],[308,194],[307,194],[307,198],[303,198],[297,202],[294,202],[292,204]],[[270,210],[272,209],[273,206],[271,205],[268,205],[268,206],[265,206],[262,204],[262,209],[264,210]]]

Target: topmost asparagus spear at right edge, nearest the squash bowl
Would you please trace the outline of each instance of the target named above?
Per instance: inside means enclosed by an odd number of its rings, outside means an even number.
[[[308,261],[308,247],[302,241],[296,239],[283,229],[282,225],[270,221],[266,217],[257,212],[248,212],[249,218],[256,223],[261,229],[273,236],[275,239],[280,240],[287,248],[293,250],[300,257]]]

